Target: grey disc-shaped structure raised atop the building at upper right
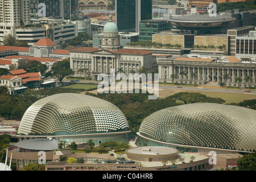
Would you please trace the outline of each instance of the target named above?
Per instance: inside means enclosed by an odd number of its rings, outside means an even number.
[[[236,18],[229,15],[181,15],[168,19],[171,24],[181,30],[212,30],[232,24]]]

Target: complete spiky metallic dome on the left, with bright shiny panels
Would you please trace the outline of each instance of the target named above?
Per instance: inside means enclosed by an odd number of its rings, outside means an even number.
[[[125,115],[112,103],[77,93],[42,98],[24,113],[19,135],[81,135],[117,133],[129,128]]]

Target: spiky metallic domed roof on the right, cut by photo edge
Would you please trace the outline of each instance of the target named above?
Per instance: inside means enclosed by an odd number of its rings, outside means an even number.
[[[149,115],[141,123],[138,135],[144,142],[177,148],[253,152],[256,151],[255,118],[256,110],[245,107],[186,104]]]

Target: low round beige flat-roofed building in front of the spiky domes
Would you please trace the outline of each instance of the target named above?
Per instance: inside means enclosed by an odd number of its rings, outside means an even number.
[[[131,160],[161,162],[163,160],[171,160],[177,158],[179,151],[171,147],[135,147],[126,150],[127,158]]]

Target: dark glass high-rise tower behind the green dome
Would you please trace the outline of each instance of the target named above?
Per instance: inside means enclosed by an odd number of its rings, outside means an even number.
[[[152,0],[115,0],[119,31],[139,32],[139,22],[146,19],[152,19]]]

